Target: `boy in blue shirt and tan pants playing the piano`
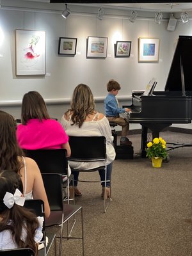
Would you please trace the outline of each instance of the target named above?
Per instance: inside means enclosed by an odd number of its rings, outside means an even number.
[[[120,145],[132,145],[132,142],[127,138],[129,133],[129,108],[120,108],[118,106],[118,100],[116,95],[121,89],[121,86],[118,82],[111,79],[107,84],[108,95],[104,100],[105,114],[109,122],[114,122],[122,126],[122,136],[120,138]],[[122,114],[127,114],[127,118],[121,117]]]

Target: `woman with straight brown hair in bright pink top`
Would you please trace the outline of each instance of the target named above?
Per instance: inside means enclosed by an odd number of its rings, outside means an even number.
[[[61,124],[50,118],[45,101],[38,92],[28,92],[22,99],[17,140],[24,149],[65,148],[70,156],[68,136]]]

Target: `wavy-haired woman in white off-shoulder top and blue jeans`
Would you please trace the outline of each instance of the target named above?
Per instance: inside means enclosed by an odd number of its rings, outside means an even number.
[[[102,113],[95,110],[93,94],[89,86],[79,84],[76,86],[71,102],[71,108],[62,116],[61,125],[69,136],[105,136],[106,137],[106,153],[107,153],[107,180],[111,180],[112,162],[115,159],[115,149],[113,148],[113,136],[111,135],[111,127],[109,121]],[[102,166],[101,163],[83,163],[70,162],[73,169],[90,169]],[[79,172],[72,172],[74,180],[78,180]],[[100,180],[104,180],[104,170],[99,170]],[[104,197],[104,182],[102,184],[102,196]],[[77,188],[75,181],[75,195],[81,196],[81,191]],[[106,184],[107,195],[110,193],[110,182]]]

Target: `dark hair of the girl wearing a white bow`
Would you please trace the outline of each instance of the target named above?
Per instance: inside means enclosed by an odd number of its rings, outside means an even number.
[[[0,232],[10,230],[13,241],[19,248],[31,248],[34,252],[37,251],[35,243],[35,232],[39,223],[35,214],[25,207],[14,204],[11,209],[8,209],[3,203],[3,198],[6,192],[12,194],[19,189],[23,193],[22,181],[20,175],[11,170],[3,170],[0,173]],[[22,230],[26,230],[26,240],[22,240]]]

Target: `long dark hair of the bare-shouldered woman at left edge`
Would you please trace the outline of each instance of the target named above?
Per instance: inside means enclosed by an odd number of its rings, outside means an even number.
[[[15,118],[0,110],[0,171],[19,172],[22,168],[18,156],[23,156],[23,152],[17,143],[16,127]]]

